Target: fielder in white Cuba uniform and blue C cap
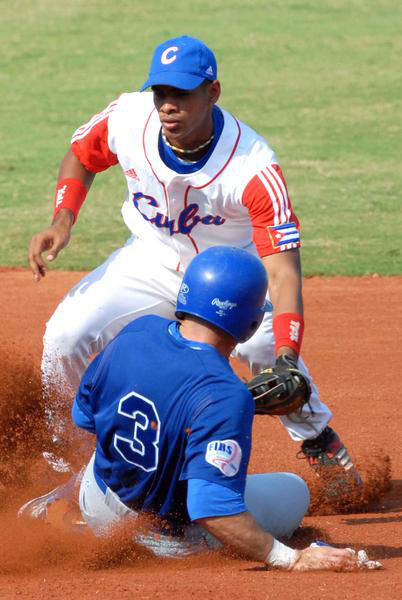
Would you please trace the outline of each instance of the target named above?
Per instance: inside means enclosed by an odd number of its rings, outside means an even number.
[[[212,51],[195,38],[171,39],[156,48],[140,92],[122,94],[73,134],[60,167],[53,223],[31,241],[35,279],[45,275],[42,253],[52,261],[68,244],[95,175],[117,164],[127,181],[122,215],[131,237],[67,294],[47,323],[46,385],[68,386],[73,396],[90,357],[127,323],[147,314],[174,318],[186,266],[222,244],[260,257],[273,305],[234,356],[257,374],[286,353],[308,374],[300,357],[299,222],[275,153],[216,104],[219,95]],[[303,442],[313,467],[341,464],[354,472],[314,384],[310,405],[281,417],[290,437]]]

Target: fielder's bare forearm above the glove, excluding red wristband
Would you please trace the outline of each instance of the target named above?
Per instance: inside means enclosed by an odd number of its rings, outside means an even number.
[[[271,302],[274,307],[274,319],[284,313],[294,313],[303,317],[301,261],[298,249],[287,250],[265,256],[262,262],[268,273],[268,285]],[[289,346],[280,346],[277,356],[287,354],[297,358],[296,350]]]

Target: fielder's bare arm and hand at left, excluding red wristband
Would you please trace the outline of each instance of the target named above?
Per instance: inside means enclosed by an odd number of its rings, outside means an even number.
[[[58,181],[74,179],[82,182],[89,190],[94,177],[95,174],[88,171],[69,150],[60,165]],[[42,253],[48,252],[46,256],[48,261],[55,260],[60,250],[65,248],[70,241],[73,223],[73,212],[68,208],[62,208],[54,217],[50,227],[32,237],[28,259],[36,281],[40,281],[46,274],[47,267]]]

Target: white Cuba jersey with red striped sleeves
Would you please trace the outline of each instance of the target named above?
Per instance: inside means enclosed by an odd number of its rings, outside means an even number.
[[[128,187],[126,225],[161,263],[178,271],[214,245],[261,257],[300,245],[274,152],[254,130],[222,113],[216,147],[195,173],[177,173],[161,159],[152,93],[123,94],[72,137],[72,151],[89,171],[120,164]]]

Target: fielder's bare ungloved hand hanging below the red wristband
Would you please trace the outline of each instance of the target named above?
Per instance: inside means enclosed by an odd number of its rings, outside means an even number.
[[[72,227],[72,213],[62,210],[58,213],[53,225],[37,233],[29,245],[28,260],[36,281],[45,276],[47,266],[42,253],[47,252],[46,259],[53,261],[60,250],[65,248],[70,241]]]

